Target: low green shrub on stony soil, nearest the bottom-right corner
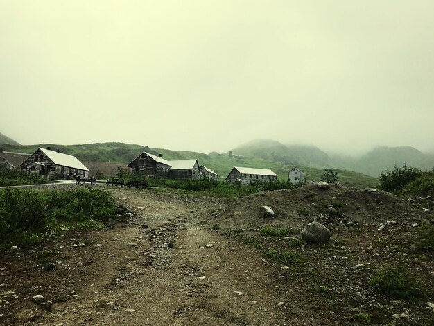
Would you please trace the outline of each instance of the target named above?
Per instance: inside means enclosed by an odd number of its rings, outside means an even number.
[[[415,277],[405,273],[403,268],[395,268],[388,264],[385,264],[376,277],[368,282],[383,293],[397,298],[408,299],[421,294]]]

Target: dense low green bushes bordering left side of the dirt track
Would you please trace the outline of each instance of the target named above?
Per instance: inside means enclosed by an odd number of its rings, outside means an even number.
[[[108,191],[72,189],[0,191],[0,242],[31,243],[62,230],[101,225],[115,216]]]

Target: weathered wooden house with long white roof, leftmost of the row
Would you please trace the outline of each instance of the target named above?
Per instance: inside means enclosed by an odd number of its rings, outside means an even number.
[[[89,169],[77,157],[51,151],[50,148],[37,148],[20,165],[21,171],[49,177],[50,175],[73,176],[89,178]]]

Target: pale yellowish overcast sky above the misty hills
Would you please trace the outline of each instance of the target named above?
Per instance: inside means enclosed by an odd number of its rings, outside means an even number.
[[[433,33],[433,0],[0,0],[0,132],[433,151]]]

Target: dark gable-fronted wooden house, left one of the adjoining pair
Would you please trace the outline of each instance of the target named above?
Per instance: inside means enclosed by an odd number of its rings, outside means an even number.
[[[155,156],[146,152],[141,153],[127,166],[132,173],[147,178],[168,178],[168,170],[171,168],[171,164],[164,160],[161,154]]]

